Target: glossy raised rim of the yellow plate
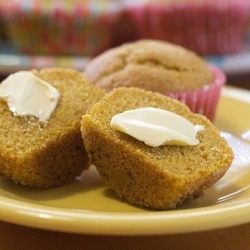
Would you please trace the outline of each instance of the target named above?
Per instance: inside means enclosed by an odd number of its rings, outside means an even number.
[[[237,94],[236,94],[237,93]],[[250,91],[233,86],[222,89],[222,97],[250,104]],[[67,233],[91,235],[160,235],[180,234],[226,228],[250,222],[250,197],[228,206],[217,203],[187,210],[145,212],[99,212],[58,208],[13,198],[1,197],[0,220],[22,226]],[[237,216],[232,217],[232,211]],[[205,216],[206,215],[206,216]],[[215,223],[220,218],[220,224]],[[197,220],[196,224],[190,223]],[[199,222],[202,218],[202,223]],[[157,223],[156,223],[157,222]],[[171,226],[168,226],[171,225]]]

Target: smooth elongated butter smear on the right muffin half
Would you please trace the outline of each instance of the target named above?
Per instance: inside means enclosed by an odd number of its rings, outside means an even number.
[[[151,107],[117,114],[111,119],[110,126],[152,147],[197,145],[196,134],[204,129],[180,115]]]

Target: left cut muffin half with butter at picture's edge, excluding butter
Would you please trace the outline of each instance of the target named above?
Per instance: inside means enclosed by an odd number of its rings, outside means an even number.
[[[63,185],[88,168],[80,132],[81,116],[104,95],[72,69],[45,68],[33,73],[59,91],[46,124],[16,116],[0,100],[0,175],[16,183],[48,188]]]

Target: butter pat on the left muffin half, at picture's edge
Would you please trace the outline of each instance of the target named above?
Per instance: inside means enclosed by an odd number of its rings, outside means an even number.
[[[35,116],[46,123],[57,105],[59,92],[32,72],[19,71],[0,84],[0,99],[7,102],[15,116]]]

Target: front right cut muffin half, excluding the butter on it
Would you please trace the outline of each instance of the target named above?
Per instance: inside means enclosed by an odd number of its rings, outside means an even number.
[[[203,126],[193,146],[152,147],[110,126],[124,111],[160,108]],[[178,100],[139,88],[120,87],[95,104],[82,118],[86,151],[101,178],[128,202],[171,209],[198,198],[230,167],[233,153],[217,128]]]

